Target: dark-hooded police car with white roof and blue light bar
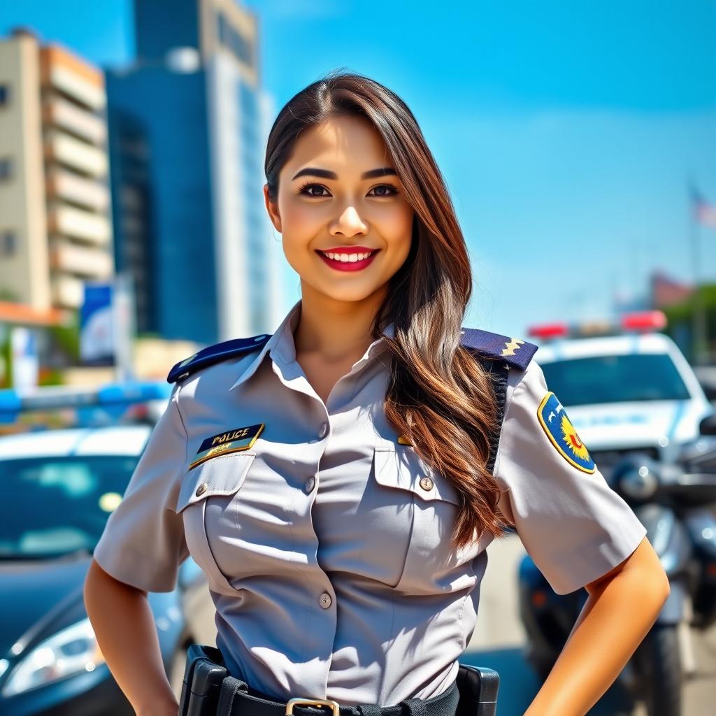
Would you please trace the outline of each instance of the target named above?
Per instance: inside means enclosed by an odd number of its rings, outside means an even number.
[[[102,657],[83,586],[169,390],[166,383],[25,396],[0,390],[0,422],[14,430],[0,436],[0,715],[134,713]],[[22,422],[38,410],[65,418],[69,410],[80,425],[37,430],[37,422]],[[178,696],[188,645],[216,637],[205,576],[189,557],[174,591],[147,597]]]

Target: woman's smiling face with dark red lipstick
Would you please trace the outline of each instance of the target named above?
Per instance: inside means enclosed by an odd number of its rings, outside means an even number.
[[[368,120],[335,117],[301,132],[279,173],[276,203],[263,191],[302,288],[360,301],[407,258],[413,210]]]

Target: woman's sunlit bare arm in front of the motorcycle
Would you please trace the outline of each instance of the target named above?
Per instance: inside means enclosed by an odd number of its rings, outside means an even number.
[[[525,716],[584,716],[656,621],[669,580],[646,537],[589,591],[569,639]]]

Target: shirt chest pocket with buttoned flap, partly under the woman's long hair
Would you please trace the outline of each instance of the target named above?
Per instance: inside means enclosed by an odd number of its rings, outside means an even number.
[[[470,555],[455,553],[450,546],[460,495],[447,478],[413,448],[387,442],[375,448],[374,480],[380,500],[396,506],[392,527],[382,533],[386,558],[391,550],[400,551],[389,582],[394,589],[435,594],[444,584],[453,584],[461,571],[469,572]],[[386,533],[390,531],[392,538]]]

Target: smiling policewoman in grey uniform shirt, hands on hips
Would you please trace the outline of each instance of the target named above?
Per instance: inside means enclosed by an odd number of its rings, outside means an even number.
[[[667,579],[536,347],[462,326],[468,251],[415,117],[367,77],[314,82],[274,122],[264,193],[301,299],[169,374],[85,586],[120,687],[176,715],[145,593],[191,555],[228,674],[263,695],[222,713],[452,716],[485,548],[513,526],[553,589],[590,594],[526,713],[586,713]]]

